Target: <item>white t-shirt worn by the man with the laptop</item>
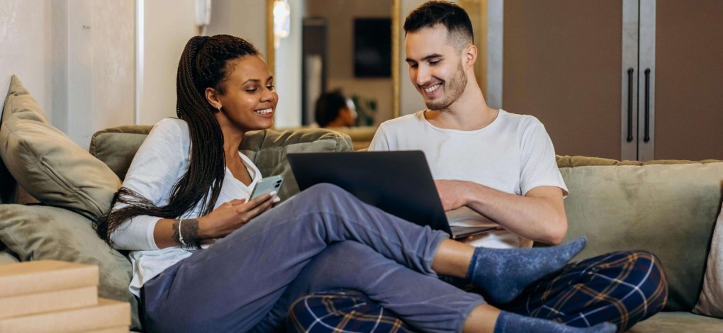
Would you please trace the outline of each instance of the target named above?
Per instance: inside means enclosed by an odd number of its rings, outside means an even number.
[[[441,129],[429,124],[424,111],[385,121],[369,150],[422,150],[435,179],[472,181],[510,194],[525,195],[537,186],[557,186],[568,193],[555,149],[544,126],[534,116],[500,110],[492,124],[474,131]],[[479,214],[463,207],[450,212],[452,225],[476,225]],[[454,222],[456,221],[456,222]],[[520,246],[507,230],[487,233],[474,246]]]

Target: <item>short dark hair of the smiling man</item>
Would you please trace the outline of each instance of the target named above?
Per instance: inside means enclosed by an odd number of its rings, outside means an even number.
[[[413,9],[404,20],[404,33],[414,33],[435,25],[443,25],[450,35],[456,34],[474,44],[469,15],[462,7],[448,1],[427,1]]]

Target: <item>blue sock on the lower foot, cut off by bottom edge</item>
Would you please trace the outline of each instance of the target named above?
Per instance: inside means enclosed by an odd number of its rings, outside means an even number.
[[[591,327],[574,327],[507,311],[502,311],[495,322],[495,333],[614,333],[615,331],[617,326],[607,321]]]

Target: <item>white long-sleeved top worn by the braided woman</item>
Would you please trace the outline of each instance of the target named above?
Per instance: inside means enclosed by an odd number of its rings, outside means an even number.
[[[191,137],[186,121],[176,118],[158,121],[133,158],[123,186],[136,191],[156,206],[168,204],[171,189],[188,170],[190,152]],[[257,181],[261,179],[261,172],[256,165],[241,152],[239,155],[251,174],[252,182],[249,186],[244,185],[226,168],[226,176],[223,177],[221,193],[218,194],[215,207],[232,199],[248,199]],[[116,203],[113,209],[124,206],[125,204]],[[201,216],[201,204],[197,204],[192,212],[182,218]],[[145,282],[191,255],[191,252],[180,246],[158,249],[153,238],[153,229],[160,219],[147,215],[137,216],[125,222],[111,235],[116,248],[137,250],[130,254],[133,265],[130,290],[137,296]]]

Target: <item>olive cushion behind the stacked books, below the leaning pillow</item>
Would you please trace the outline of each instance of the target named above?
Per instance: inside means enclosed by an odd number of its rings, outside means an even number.
[[[0,242],[21,261],[55,259],[98,265],[98,295],[130,302],[133,324],[139,327],[137,301],[128,290],[131,264],[101,241],[91,225],[90,220],[67,209],[3,204]]]

